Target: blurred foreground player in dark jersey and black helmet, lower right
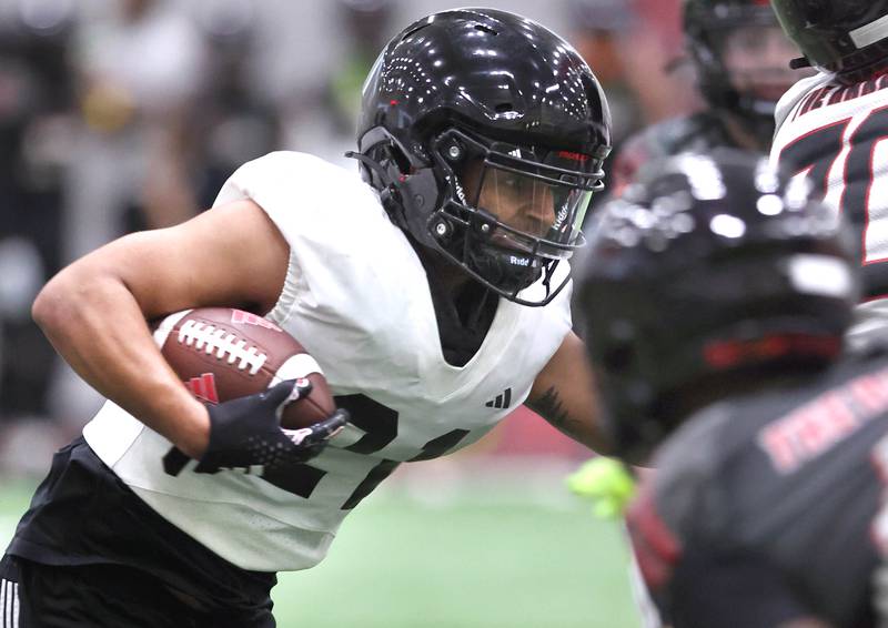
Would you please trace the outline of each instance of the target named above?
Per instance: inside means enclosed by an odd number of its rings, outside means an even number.
[[[888,353],[842,356],[854,239],[788,181],[738,151],[650,164],[578,271],[603,424],[656,467],[627,520],[675,628],[884,625]]]

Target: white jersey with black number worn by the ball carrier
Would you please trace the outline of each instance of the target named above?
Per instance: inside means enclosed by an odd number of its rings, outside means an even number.
[[[263,207],[291,247],[268,317],[317,359],[351,424],[304,465],[296,493],[234,470],[195,474],[193,462],[169,476],[161,458],[170,442],[110,402],[84,436],[137,495],[223,558],[245,569],[304,569],[398,463],[465,446],[524,402],[571,328],[571,291],[544,307],[500,300],[476,355],[451,366],[425,271],[357,173],[271,153],[239,169],[215,204],[241,199]]]

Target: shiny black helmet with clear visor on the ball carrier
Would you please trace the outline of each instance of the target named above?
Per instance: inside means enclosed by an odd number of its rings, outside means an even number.
[[[603,188],[610,114],[585,61],[513,13],[458,9],[398,33],[363,90],[362,175],[395,224],[476,281],[548,303]],[[545,291],[521,291],[543,277]],[[557,285],[554,285],[557,283]]]

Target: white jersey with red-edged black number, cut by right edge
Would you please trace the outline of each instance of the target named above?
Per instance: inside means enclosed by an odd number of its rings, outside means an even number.
[[[777,104],[770,160],[842,212],[861,244],[864,302],[849,337],[888,337],[888,75],[852,85],[819,73]]]

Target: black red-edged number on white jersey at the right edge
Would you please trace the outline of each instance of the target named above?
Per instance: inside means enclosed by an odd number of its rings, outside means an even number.
[[[837,204],[839,211],[848,212],[852,224],[862,225],[865,285],[868,296],[880,296],[888,292],[888,277],[882,266],[888,262],[888,204],[875,203],[882,194],[872,196],[871,193],[877,180],[876,148],[888,136],[888,107],[869,112],[847,138],[846,149],[845,136],[850,123],[848,118],[798,138],[784,146],[778,161],[795,173],[806,172],[821,196],[827,194],[830,173],[836,166],[840,169]]]

